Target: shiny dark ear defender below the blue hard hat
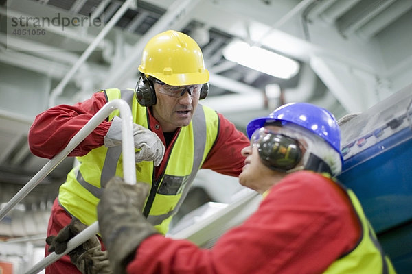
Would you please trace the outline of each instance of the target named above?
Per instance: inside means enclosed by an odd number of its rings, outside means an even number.
[[[273,133],[258,140],[258,153],[266,166],[284,172],[297,166],[302,157],[297,140]]]

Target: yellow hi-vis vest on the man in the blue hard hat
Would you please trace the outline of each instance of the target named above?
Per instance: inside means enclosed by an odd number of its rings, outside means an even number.
[[[339,183],[338,183],[339,184]],[[358,215],[358,219],[362,226],[362,237],[354,249],[346,254],[343,254],[341,258],[334,261],[324,273],[326,274],[369,274],[369,273],[382,273],[392,274],[396,273],[391,260],[385,255],[374,229],[367,220],[361,203],[352,190],[343,188],[352,201],[352,206]]]

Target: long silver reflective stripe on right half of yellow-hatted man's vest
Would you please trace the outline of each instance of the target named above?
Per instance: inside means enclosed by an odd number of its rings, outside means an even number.
[[[202,164],[202,159],[203,159],[203,153],[205,151],[205,146],[206,146],[206,119],[205,119],[205,112],[203,110],[202,105],[198,105],[198,108],[196,108],[196,112],[194,112],[193,119],[192,119],[192,125],[193,125],[193,132],[194,132],[194,158],[193,158],[193,166],[192,166],[192,173],[190,173],[189,178],[187,179],[187,184],[185,189],[183,189],[181,198],[177,202],[176,206],[174,207],[174,210],[161,214],[161,215],[149,215],[148,216],[148,221],[152,225],[160,225],[163,220],[168,219],[170,216],[175,214],[179,208],[181,207],[181,204],[185,200],[185,197],[187,196],[187,192],[190,190],[190,186],[192,186],[192,182],[194,180],[194,177],[196,177],[196,174],[198,170],[201,168]]]

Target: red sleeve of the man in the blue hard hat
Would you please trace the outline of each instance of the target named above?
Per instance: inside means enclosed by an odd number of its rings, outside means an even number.
[[[352,207],[320,175],[288,175],[242,225],[212,249],[155,235],[144,240],[128,273],[322,273],[360,237]]]

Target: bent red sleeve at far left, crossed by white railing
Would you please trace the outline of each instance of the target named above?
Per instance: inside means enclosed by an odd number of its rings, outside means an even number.
[[[56,105],[38,114],[29,129],[30,151],[39,157],[53,158],[105,103],[104,92],[95,92],[91,99],[76,105]],[[108,121],[100,123],[69,156],[86,155],[91,149],[104,145],[110,125]]]

